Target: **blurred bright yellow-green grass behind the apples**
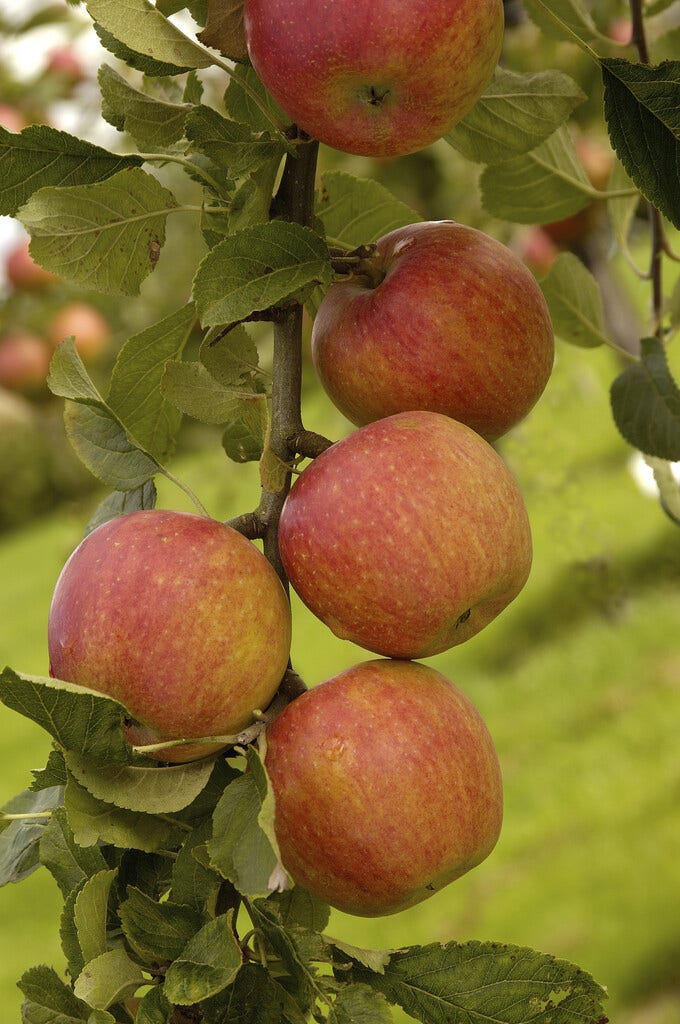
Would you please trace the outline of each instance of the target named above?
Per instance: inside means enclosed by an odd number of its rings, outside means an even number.
[[[469,693],[496,739],[506,793],[496,851],[419,907],[334,914],[329,931],[378,947],[526,944],[592,972],[613,1021],[677,1024],[680,530],[631,478],[608,409],[617,372],[608,351],[560,344],[544,397],[502,446],[533,523],[529,583],[481,635],[429,662]],[[313,429],[347,429],[315,390],[305,411]],[[214,515],[257,503],[256,469],[227,464],[217,443],[176,469]],[[160,496],[187,507],[171,485]],[[0,664],[46,671],[51,590],[86,518],[60,510],[0,538]],[[294,664],[308,683],[367,656],[294,610]],[[0,707],[0,803],[47,752],[40,730]],[[44,870],[0,892],[4,1021],[19,1020],[26,968],[62,965],[59,909]]]

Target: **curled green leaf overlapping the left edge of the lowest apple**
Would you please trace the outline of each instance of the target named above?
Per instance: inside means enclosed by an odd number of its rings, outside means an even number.
[[[208,843],[211,863],[245,896],[267,896],[277,854],[260,827],[258,815],[266,781],[250,771],[225,788],[213,814]]]

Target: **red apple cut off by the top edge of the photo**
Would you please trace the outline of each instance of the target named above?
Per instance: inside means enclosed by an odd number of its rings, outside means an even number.
[[[471,109],[503,42],[502,0],[246,0],[262,82],[309,135],[395,157],[434,142]]]

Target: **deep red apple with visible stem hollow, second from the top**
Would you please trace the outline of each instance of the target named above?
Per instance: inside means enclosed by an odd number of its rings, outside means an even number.
[[[326,293],[311,335],[324,389],[352,423],[429,410],[487,440],[523,419],[554,361],[546,300],[507,246],[452,220],[377,243],[377,287]]]

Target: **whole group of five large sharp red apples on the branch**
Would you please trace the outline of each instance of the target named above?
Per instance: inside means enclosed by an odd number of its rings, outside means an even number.
[[[351,17],[341,0],[311,7],[246,0],[250,57],[305,132],[350,153],[429,144],[471,108],[500,53],[501,0],[352,3]],[[486,725],[418,659],[473,637],[527,580],[526,509],[491,442],[543,392],[553,331],[508,248],[422,222],[380,239],[330,287],[311,345],[356,429],[293,484],[281,558],[314,615],[380,656],[273,717],[265,764],[291,878],[347,912],[384,914],[474,867],[500,834]],[[177,512],[93,530],[50,610],[54,676],[122,702],[135,743],[197,739],[163,760],[204,756],[210,737],[265,711],[290,642],[290,604],[264,556],[230,526]]]

